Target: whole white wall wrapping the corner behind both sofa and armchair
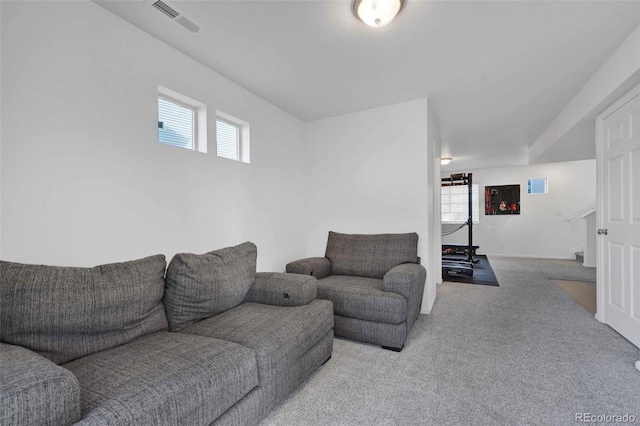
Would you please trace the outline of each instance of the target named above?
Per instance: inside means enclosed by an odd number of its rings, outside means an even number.
[[[329,230],[415,231],[430,311],[426,99],[304,124],[93,3],[1,7],[3,259],[90,266],[251,240],[260,270],[282,270],[324,254]],[[208,154],[158,143],[158,85],[207,105]],[[251,123],[251,164],[215,156],[216,110]]]

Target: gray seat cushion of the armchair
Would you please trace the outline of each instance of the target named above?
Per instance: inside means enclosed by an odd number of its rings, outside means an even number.
[[[336,315],[389,324],[407,319],[407,300],[384,291],[376,278],[331,275],[318,280],[318,299],[331,300]]]

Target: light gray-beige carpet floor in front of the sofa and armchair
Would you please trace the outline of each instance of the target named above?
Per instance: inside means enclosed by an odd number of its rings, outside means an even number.
[[[335,339],[329,362],[261,426],[570,426],[580,424],[576,413],[640,419],[638,348],[550,281],[593,282],[595,268],[490,261],[500,286],[439,285],[402,352]]]

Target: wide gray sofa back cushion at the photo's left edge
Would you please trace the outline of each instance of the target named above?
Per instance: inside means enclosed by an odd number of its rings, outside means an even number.
[[[0,261],[0,338],[62,364],[167,329],[163,255],[94,268]]]

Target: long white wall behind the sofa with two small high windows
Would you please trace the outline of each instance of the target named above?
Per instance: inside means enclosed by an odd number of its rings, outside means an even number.
[[[91,2],[1,7],[3,259],[304,252],[302,122]],[[158,85],[207,104],[209,154],[157,141]],[[216,157],[216,110],[251,124],[251,164]]]

